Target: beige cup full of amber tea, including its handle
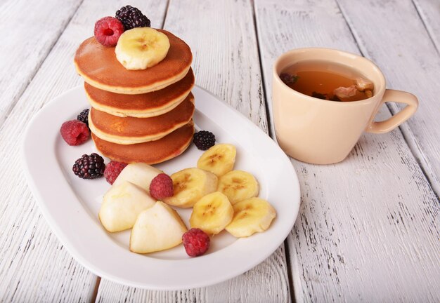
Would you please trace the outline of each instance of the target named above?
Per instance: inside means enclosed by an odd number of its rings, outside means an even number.
[[[418,108],[415,95],[386,88],[370,60],[330,48],[290,50],[273,65],[272,105],[278,144],[299,161],[344,160],[364,131],[387,133]],[[407,106],[376,122],[384,102]]]

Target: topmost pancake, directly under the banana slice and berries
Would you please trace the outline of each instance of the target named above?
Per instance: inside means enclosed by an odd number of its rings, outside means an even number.
[[[129,70],[116,59],[115,47],[103,46],[95,37],[84,40],[75,53],[75,67],[91,86],[113,93],[140,94],[160,90],[182,79],[190,69],[190,47],[174,34],[168,36],[167,57],[148,69]]]

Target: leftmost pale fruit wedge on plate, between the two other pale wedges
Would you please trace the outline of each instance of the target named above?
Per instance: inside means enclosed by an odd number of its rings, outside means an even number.
[[[124,181],[113,185],[104,195],[99,221],[110,232],[131,229],[143,210],[155,205],[155,200],[141,187]]]

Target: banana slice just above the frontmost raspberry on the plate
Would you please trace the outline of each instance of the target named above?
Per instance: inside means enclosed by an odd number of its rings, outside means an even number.
[[[194,204],[190,217],[192,228],[199,228],[207,234],[219,234],[231,222],[234,210],[228,197],[215,191]]]

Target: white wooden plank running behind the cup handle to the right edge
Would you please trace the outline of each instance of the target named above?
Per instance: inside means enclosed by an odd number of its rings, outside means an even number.
[[[356,7],[341,0],[339,6],[363,55],[382,69],[388,86],[418,96],[418,112],[400,128],[439,196],[440,86],[436,79],[440,79],[440,56],[432,39],[410,0],[385,4],[369,0]],[[402,107],[389,105],[393,114]]]

